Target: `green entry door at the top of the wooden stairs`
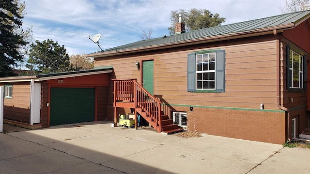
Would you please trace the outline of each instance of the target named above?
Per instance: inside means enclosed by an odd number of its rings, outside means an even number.
[[[147,91],[154,95],[154,61],[143,61],[142,69],[142,85]]]

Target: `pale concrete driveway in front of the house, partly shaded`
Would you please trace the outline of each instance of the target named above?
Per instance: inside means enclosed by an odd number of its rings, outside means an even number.
[[[90,122],[0,133],[0,173],[310,174],[310,149]]]

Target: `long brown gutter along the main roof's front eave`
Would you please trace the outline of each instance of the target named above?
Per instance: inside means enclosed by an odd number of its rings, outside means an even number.
[[[251,30],[251,31],[245,31],[245,32],[238,32],[238,33],[223,34],[223,35],[193,39],[189,41],[165,43],[165,44],[160,44],[160,45],[152,45],[152,46],[146,46],[146,47],[108,51],[108,52],[102,52],[102,53],[97,53],[97,54],[89,54],[89,55],[85,55],[85,57],[102,58],[102,57],[137,53],[141,51],[153,51],[153,50],[173,48],[173,47],[179,47],[179,46],[187,46],[187,45],[193,45],[193,44],[199,44],[199,43],[210,43],[210,42],[238,39],[238,38],[244,38],[244,37],[250,37],[250,36],[266,35],[266,34],[272,34],[274,29],[276,29],[278,32],[282,32],[284,29],[291,29],[291,28],[294,28],[294,26],[295,26],[294,23],[290,23],[290,24],[276,26],[276,27],[257,29],[257,30]]]

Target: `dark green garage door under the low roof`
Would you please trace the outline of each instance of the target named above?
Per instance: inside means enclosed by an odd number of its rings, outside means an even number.
[[[94,88],[50,88],[50,125],[94,121]]]

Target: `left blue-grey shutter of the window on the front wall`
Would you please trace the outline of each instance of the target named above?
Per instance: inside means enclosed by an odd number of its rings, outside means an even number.
[[[187,91],[195,92],[195,66],[196,54],[191,53],[187,55]]]

